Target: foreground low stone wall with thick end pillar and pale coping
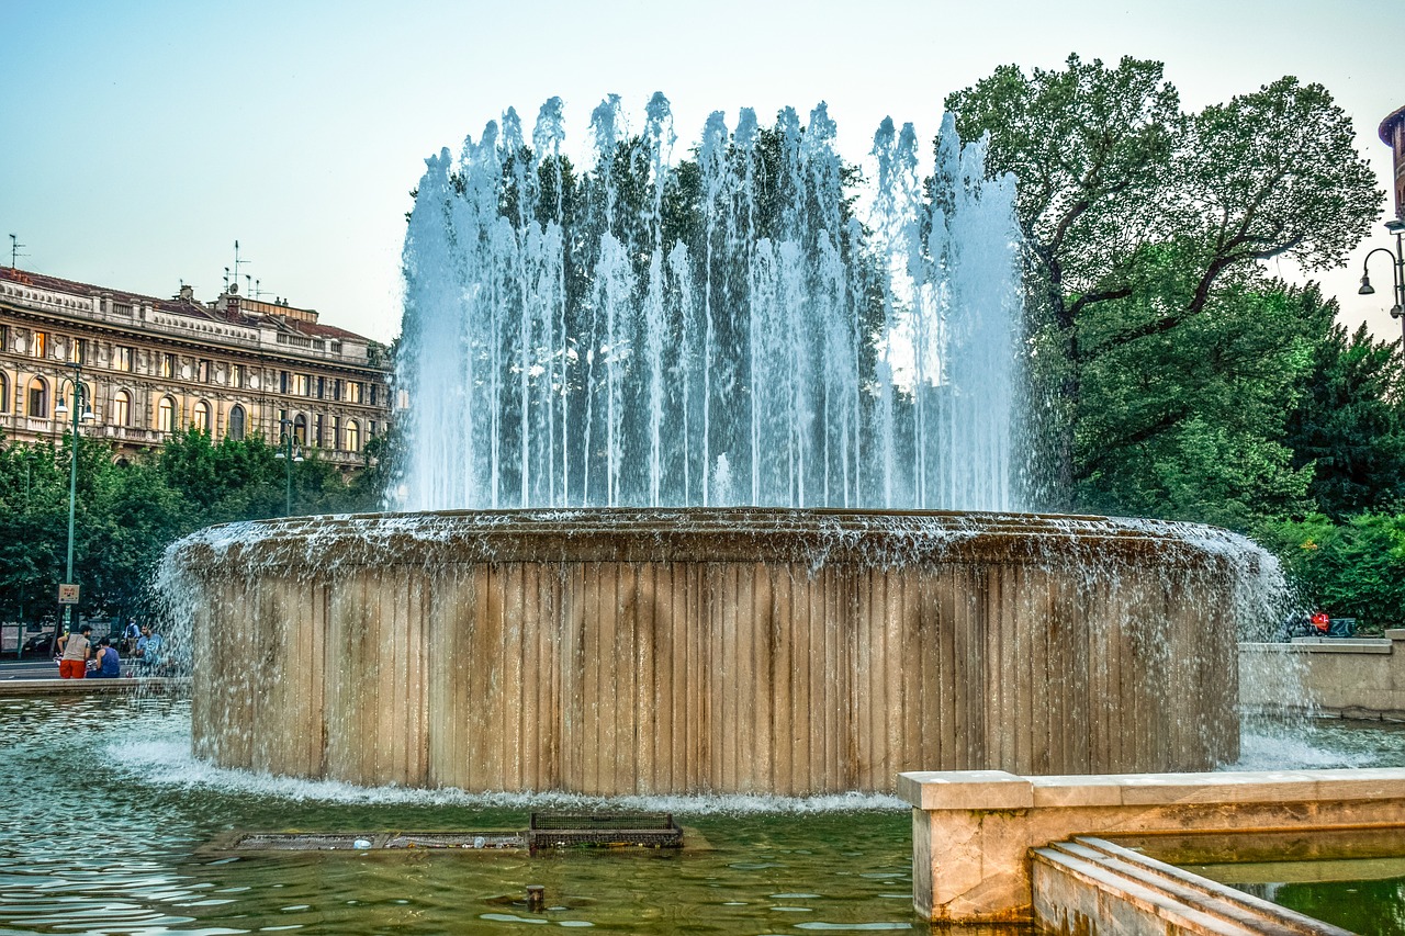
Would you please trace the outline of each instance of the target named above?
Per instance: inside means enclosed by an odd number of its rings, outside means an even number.
[[[1405,824],[1405,769],[1394,767],[1062,777],[903,773],[898,795],[913,807],[913,906],[953,923],[1033,919],[1030,850],[1078,835]]]

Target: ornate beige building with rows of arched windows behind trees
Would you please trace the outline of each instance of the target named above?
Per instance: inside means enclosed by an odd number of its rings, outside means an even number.
[[[74,367],[76,365],[76,367]],[[58,441],[83,382],[93,419],[80,433],[115,458],[195,426],[215,441],[291,436],[344,468],[389,427],[389,361],[370,339],[318,312],[230,288],[201,304],[0,267],[0,430]],[[69,419],[72,415],[69,415]]]

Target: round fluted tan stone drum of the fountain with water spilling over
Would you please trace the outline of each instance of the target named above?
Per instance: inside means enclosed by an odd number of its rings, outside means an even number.
[[[589,794],[1205,769],[1238,753],[1242,569],[1186,530],[1205,528],[764,510],[215,528],[173,559],[195,750]]]

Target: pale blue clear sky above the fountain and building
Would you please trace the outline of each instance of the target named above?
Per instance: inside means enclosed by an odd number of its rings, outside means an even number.
[[[424,157],[509,105],[530,132],[566,103],[572,143],[618,93],[660,90],[680,149],[712,110],[829,103],[840,149],[885,115],[929,139],[941,98],[1000,63],[1069,52],[1166,63],[1183,105],[1283,74],[1325,84],[1387,187],[1375,128],[1405,105],[1398,3],[1374,0],[0,0],[0,247],[18,266],[156,297],[212,299],[233,264],[268,297],[379,340],[399,332],[399,256]],[[1343,320],[1383,337],[1388,288],[1361,256],[1322,277]],[[1279,270],[1284,275],[1294,271]],[[1388,282],[1388,268],[1375,268]],[[244,287],[240,275],[240,288]]]

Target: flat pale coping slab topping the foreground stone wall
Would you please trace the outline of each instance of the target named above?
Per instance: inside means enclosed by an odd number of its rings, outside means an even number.
[[[924,811],[1047,807],[1405,800],[1405,767],[1021,777],[1005,770],[898,774],[898,795]]]

